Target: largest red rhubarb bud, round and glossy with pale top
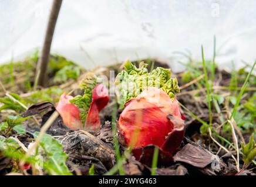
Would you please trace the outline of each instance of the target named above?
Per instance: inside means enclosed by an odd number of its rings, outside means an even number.
[[[173,154],[184,137],[184,120],[176,97],[170,99],[166,92],[147,87],[136,98],[124,105],[119,117],[119,129],[126,144],[138,150],[151,144]],[[139,154],[138,154],[139,153]]]

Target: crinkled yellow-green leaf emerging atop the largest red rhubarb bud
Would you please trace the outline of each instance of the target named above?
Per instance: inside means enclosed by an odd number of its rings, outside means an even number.
[[[117,87],[117,102],[121,108],[129,99],[142,93],[147,86],[154,86],[166,92],[170,98],[180,92],[177,78],[171,78],[170,69],[157,67],[149,72],[146,63],[140,63],[137,68],[130,61],[124,64],[124,70],[117,74],[115,85]]]

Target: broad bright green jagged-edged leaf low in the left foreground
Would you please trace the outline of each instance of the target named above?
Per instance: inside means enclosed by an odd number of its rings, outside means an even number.
[[[34,137],[38,137],[35,132]],[[62,145],[49,134],[44,134],[39,146],[45,151],[43,167],[50,175],[72,175],[66,166],[68,155],[63,151]]]

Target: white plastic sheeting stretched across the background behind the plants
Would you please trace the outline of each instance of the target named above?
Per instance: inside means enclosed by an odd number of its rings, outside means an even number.
[[[0,64],[41,47],[52,1],[0,0]],[[127,58],[159,58],[181,70],[175,51],[213,55],[237,68],[256,59],[256,1],[63,0],[52,53],[89,69]]]

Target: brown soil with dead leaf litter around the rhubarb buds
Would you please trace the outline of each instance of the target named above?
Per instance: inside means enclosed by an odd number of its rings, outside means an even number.
[[[155,63],[157,66],[165,66],[162,63]],[[116,66],[119,67],[119,66]],[[113,68],[113,67],[112,67]],[[117,70],[118,68],[116,68]],[[184,85],[182,82],[182,74],[177,74],[179,85]],[[227,71],[216,70],[215,79],[220,80],[217,82],[220,86],[229,86],[231,74]],[[68,90],[69,88],[67,88]],[[191,110],[194,115],[200,117],[206,122],[209,122],[208,108],[205,101],[205,91],[199,92],[195,97],[191,94],[191,87],[184,88],[178,94],[178,101],[186,108]],[[75,92],[77,93],[77,92]],[[55,120],[49,128],[48,133],[63,145],[65,152],[69,158],[67,165],[73,174],[78,174],[77,169],[82,175],[88,175],[89,168],[92,164],[95,166],[95,174],[103,175],[109,171],[114,164],[116,164],[115,151],[113,148],[113,134],[112,133],[112,109],[114,98],[110,98],[109,105],[100,113],[102,128],[96,133],[86,131],[72,131],[63,125],[61,117]],[[224,106],[223,106],[224,108]],[[41,126],[46,122],[49,116],[53,113],[55,107],[50,102],[36,103],[31,106],[23,116],[36,115],[36,119],[41,123]],[[214,142],[207,136],[200,133],[201,123],[191,117],[191,115],[184,111],[183,115],[186,117],[186,136],[180,150],[171,159],[163,158],[159,161],[156,169],[157,175],[234,175],[237,173],[235,170],[235,162],[230,154],[220,150]],[[119,111],[120,114],[120,111]],[[118,116],[117,116],[118,119]],[[213,115],[213,124],[221,124],[217,113]],[[39,126],[26,122],[25,124],[27,133],[17,138],[25,145],[28,146],[33,140],[33,132],[40,130]],[[245,136],[246,137],[246,136]],[[248,139],[248,136],[247,138]],[[122,145],[122,138],[119,138]],[[126,147],[121,146],[121,153],[124,152]],[[151,155],[153,154],[154,146],[144,148],[144,155],[139,161],[130,155],[123,163],[123,169],[126,175],[150,175],[151,168]],[[218,155],[214,154],[218,153]],[[161,154],[161,153],[160,153]],[[232,153],[236,157],[236,153]],[[241,161],[242,163],[242,161]],[[0,174],[5,175],[11,171],[12,161],[0,155]],[[256,175],[255,169],[251,165],[245,170],[245,175]],[[31,171],[28,170],[28,173]],[[114,172],[118,175],[118,171]]]

